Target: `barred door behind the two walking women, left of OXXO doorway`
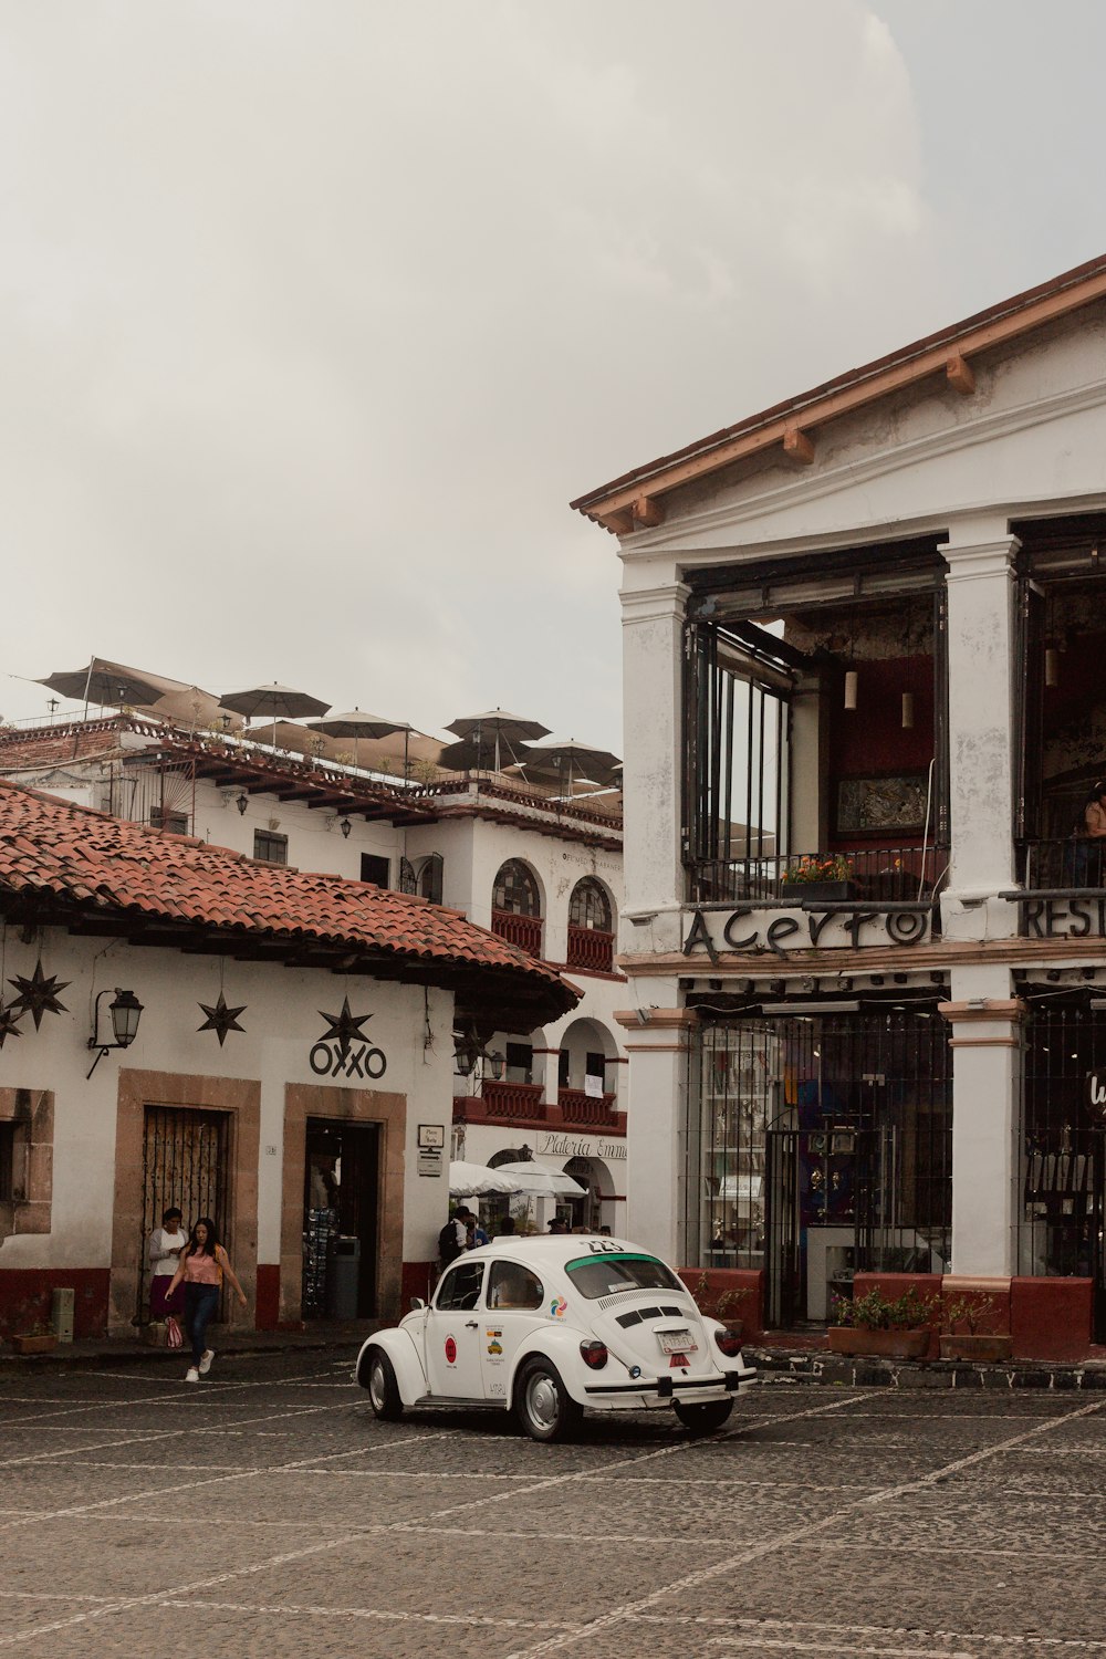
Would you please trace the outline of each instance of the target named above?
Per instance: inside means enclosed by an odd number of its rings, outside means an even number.
[[[199,1216],[211,1216],[227,1241],[227,1151],[230,1117],[191,1107],[146,1107],[143,1135],[143,1234],[134,1317],[146,1319],[149,1262],[146,1239],[161,1226],[171,1204],[184,1213],[187,1231]],[[219,1317],[222,1319],[222,1309]]]

